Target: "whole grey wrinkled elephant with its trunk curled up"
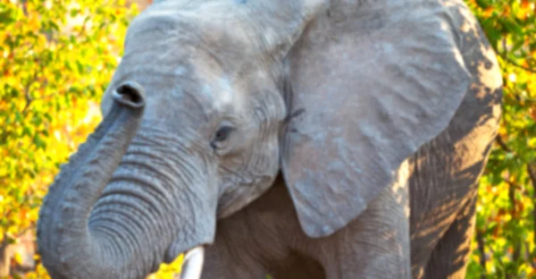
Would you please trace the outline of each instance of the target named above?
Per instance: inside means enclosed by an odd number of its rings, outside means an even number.
[[[43,264],[143,278],[202,245],[203,278],[461,278],[500,88],[461,0],[156,2],[46,196]]]

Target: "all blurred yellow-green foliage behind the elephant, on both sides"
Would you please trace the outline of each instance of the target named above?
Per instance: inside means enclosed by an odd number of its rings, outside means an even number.
[[[39,205],[99,123],[128,24],[151,2],[0,0],[0,278],[48,278],[35,246]],[[465,2],[505,84],[467,278],[536,278],[536,0]],[[180,260],[150,278],[172,278]]]

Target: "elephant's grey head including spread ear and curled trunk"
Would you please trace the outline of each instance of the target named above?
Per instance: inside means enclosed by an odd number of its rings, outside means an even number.
[[[281,171],[307,235],[356,218],[447,125],[470,76],[434,1],[159,1],[105,118],[51,186],[54,278],[139,278],[214,241]],[[202,253],[201,253],[202,254]]]

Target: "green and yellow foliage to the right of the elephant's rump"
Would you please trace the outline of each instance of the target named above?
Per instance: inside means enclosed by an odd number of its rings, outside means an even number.
[[[536,277],[536,4],[469,0],[505,82],[496,147],[481,181],[468,278]]]

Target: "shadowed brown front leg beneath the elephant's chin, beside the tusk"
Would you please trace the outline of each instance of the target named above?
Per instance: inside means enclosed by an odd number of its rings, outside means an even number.
[[[278,177],[261,197],[218,221],[214,244],[205,252],[203,278],[264,279],[272,275],[274,279],[315,279],[306,271],[322,268],[289,247],[291,240],[303,243],[305,238],[284,182]]]

